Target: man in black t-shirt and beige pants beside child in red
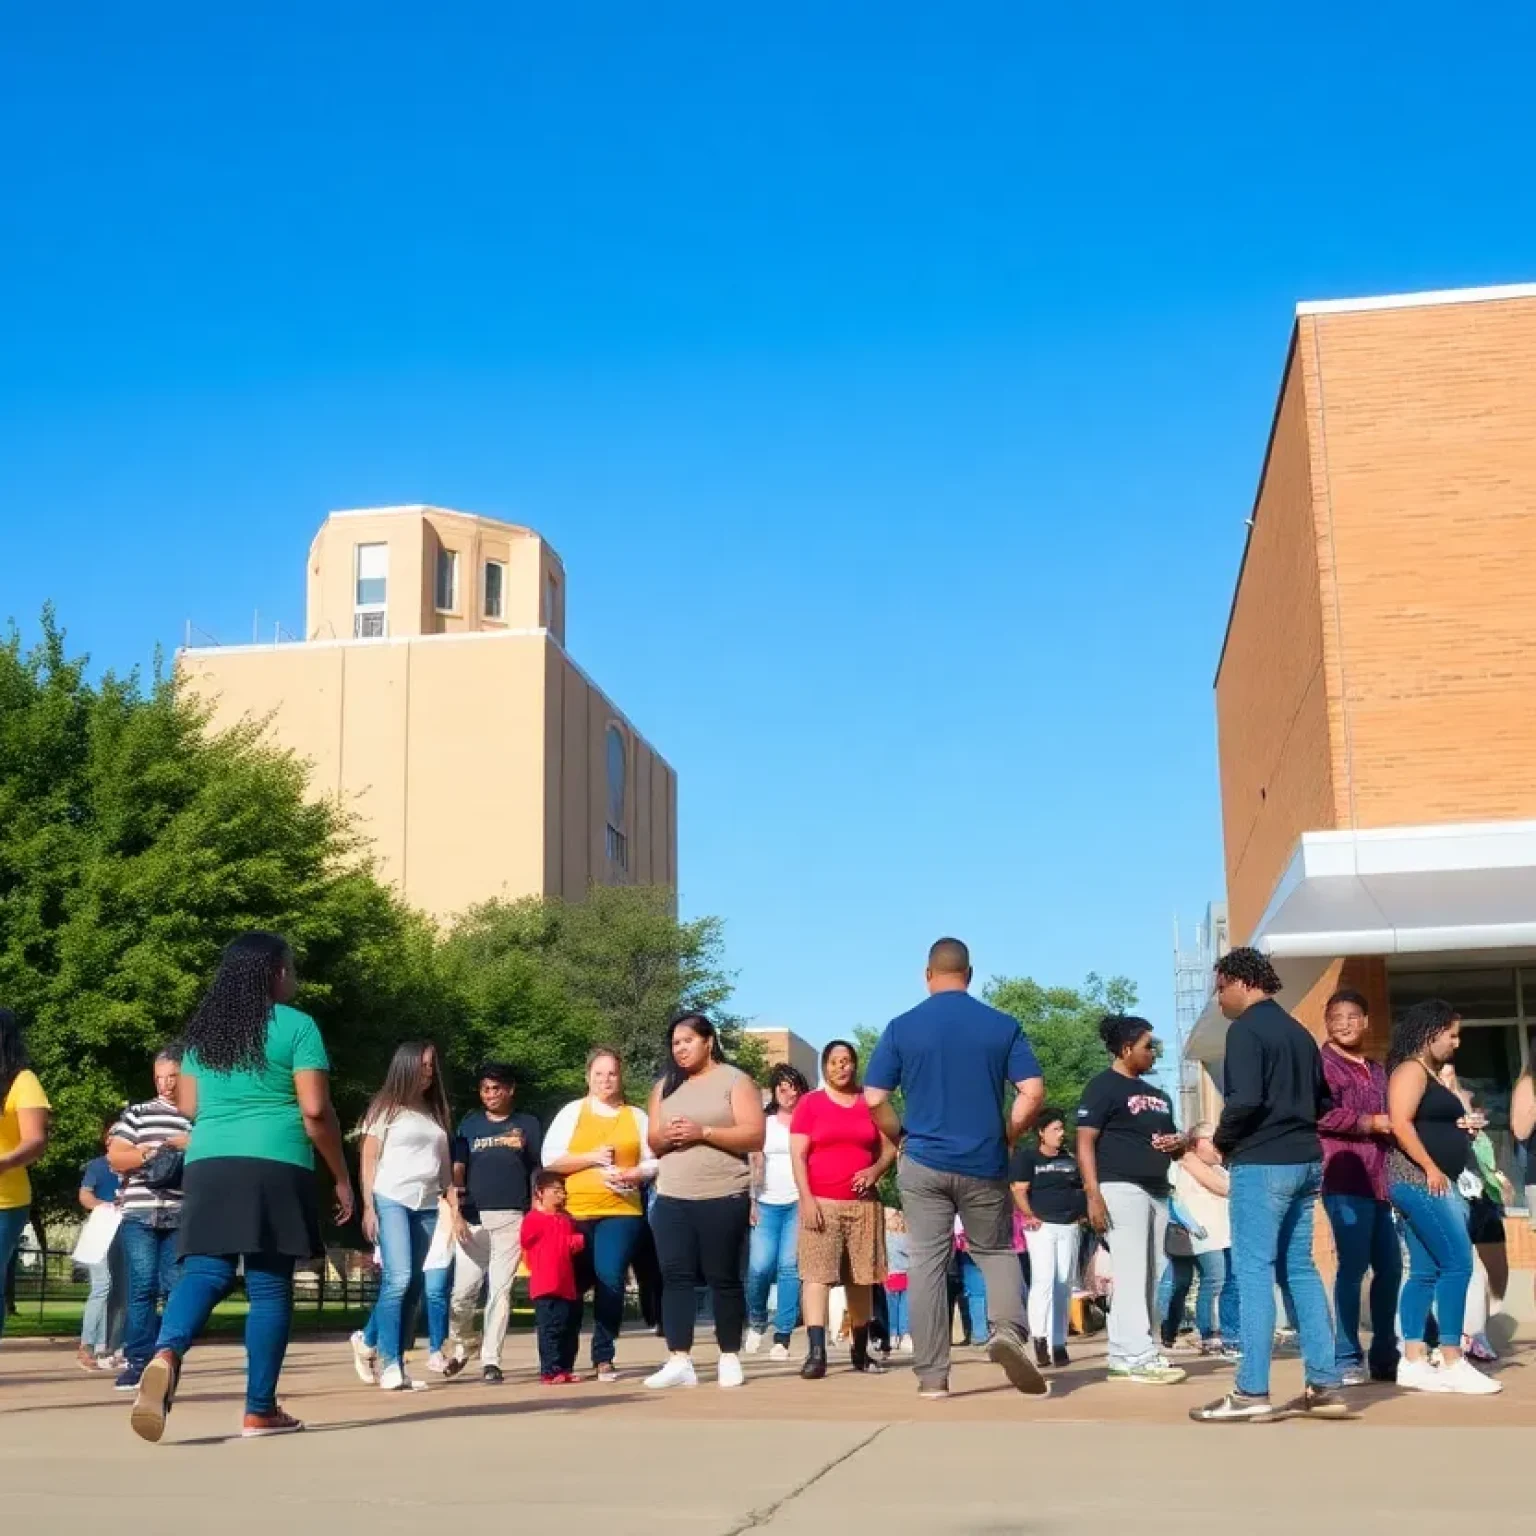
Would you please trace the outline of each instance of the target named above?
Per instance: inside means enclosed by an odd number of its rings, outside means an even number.
[[[479,1069],[481,1109],[465,1115],[453,1141],[461,1223],[453,1255],[453,1352],[449,1375],[464,1369],[475,1309],[490,1275],[481,1332],[481,1379],[499,1382],[501,1346],[511,1316],[511,1283],[522,1260],[522,1218],[533,1200],[544,1134],[533,1115],[513,1114],[516,1074],[501,1063]]]

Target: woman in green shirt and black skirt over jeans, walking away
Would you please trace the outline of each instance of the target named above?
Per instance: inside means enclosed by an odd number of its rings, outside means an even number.
[[[293,1266],[321,1253],[315,1150],[336,1181],[336,1223],[352,1180],[330,1103],[330,1061],[309,1014],[289,1008],[293,952],[276,934],[241,934],[186,1029],[177,1107],[192,1121],[181,1207],[181,1273],[134,1399],[134,1433],[158,1441],[181,1358],[244,1261],[247,1439],[304,1425],[278,1407],[293,1316]]]

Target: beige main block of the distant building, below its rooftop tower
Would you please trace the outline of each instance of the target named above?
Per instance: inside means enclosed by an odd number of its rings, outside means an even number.
[[[492,897],[677,882],[671,768],[542,631],[183,651],[212,727],[270,716],[372,839],[381,874],[449,919]],[[605,733],[628,750],[628,869],[607,859]]]

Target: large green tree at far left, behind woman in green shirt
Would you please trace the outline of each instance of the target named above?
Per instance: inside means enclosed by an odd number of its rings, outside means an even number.
[[[31,650],[15,630],[0,645],[0,997],[54,1103],[45,1218],[72,1209],[103,1117],[151,1092],[151,1055],[243,929],[293,943],[344,1114],[395,1040],[442,1021],[430,934],[352,823],[257,727],[206,725],[158,667],[88,680],[51,611]]]

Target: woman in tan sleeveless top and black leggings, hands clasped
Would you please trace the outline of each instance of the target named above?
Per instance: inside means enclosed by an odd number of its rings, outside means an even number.
[[[717,1381],[742,1384],[746,1296],[742,1252],[751,1220],[750,1157],[763,1146],[757,1084],[725,1060],[714,1025],[684,1014],[667,1032],[668,1066],[651,1089],[647,1127],[659,1160],[651,1230],[662,1267],[668,1358],[647,1387],[694,1387],[694,1283],[703,1275],[720,1346]]]

